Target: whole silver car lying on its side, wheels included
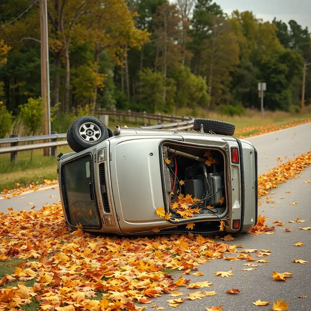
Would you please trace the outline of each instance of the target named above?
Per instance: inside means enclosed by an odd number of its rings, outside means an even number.
[[[112,132],[97,118],[77,118],[67,132],[76,152],[58,156],[66,225],[114,234],[252,229],[256,149],[232,137],[231,123],[196,119],[193,129]]]

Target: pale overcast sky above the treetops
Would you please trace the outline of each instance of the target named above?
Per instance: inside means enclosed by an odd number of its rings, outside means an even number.
[[[311,30],[311,0],[214,0],[222,10],[231,14],[233,10],[253,11],[257,18],[264,21],[277,20],[286,23],[291,19],[303,28]]]

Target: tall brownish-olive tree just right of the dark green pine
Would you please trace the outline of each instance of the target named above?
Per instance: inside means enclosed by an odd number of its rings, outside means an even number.
[[[217,16],[212,17],[212,23],[211,37],[204,41],[205,50],[202,52],[208,95],[211,97],[207,108],[210,104],[230,100],[230,72],[239,63],[239,44],[230,23]]]

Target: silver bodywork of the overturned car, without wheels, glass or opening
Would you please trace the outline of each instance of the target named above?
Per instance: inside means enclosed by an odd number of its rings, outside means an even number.
[[[80,155],[91,152],[94,162],[96,204],[99,208],[102,227],[100,230],[87,231],[137,234],[151,232],[154,227],[158,227],[158,229],[172,228],[174,231],[174,227],[178,223],[169,222],[156,215],[156,209],[165,206],[160,173],[162,159],[160,159],[159,152],[159,146],[163,141],[175,141],[220,150],[225,158],[225,195],[228,205],[227,214],[222,219],[225,222],[225,230],[230,233],[246,232],[256,224],[256,151],[251,143],[241,140],[239,146],[237,142],[239,140],[234,137],[206,133],[121,128],[118,136],[113,136],[79,153],[64,155],[59,161],[59,191],[67,225],[70,226],[64,208],[62,165]],[[233,164],[230,148],[237,146],[239,149],[242,148],[243,156],[239,164]],[[102,148],[106,148],[106,160],[97,163],[96,154]],[[241,150],[239,150],[240,152]],[[241,169],[242,162],[243,168]],[[104,211],[103,208],[99,176],[100,165],[104,165],[105,170],[109,212]],[[244,174],[241,178],[242,170]],[[244,188],[243,192],[242,188]],[[107,215],[113,216],[113,226],[105,224],[104,216]],[[240,219],[241,225],[243,224],[239,229],[233,229],[233,220],[236,219]],[[213,220],[219,221],[216,216],[207,221]],[[202,221],[202,219],[197,218],[190,221]]]

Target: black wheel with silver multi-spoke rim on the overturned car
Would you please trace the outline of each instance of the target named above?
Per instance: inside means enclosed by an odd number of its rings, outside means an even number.
[[[89,128],[88,125],[90,125]],[[91,128],[92,126],[93,128]],[[108,137],[104,123],[92,116],[77,118],[72,122],[67,132],[68,145],[76,152],[95,146]]]

